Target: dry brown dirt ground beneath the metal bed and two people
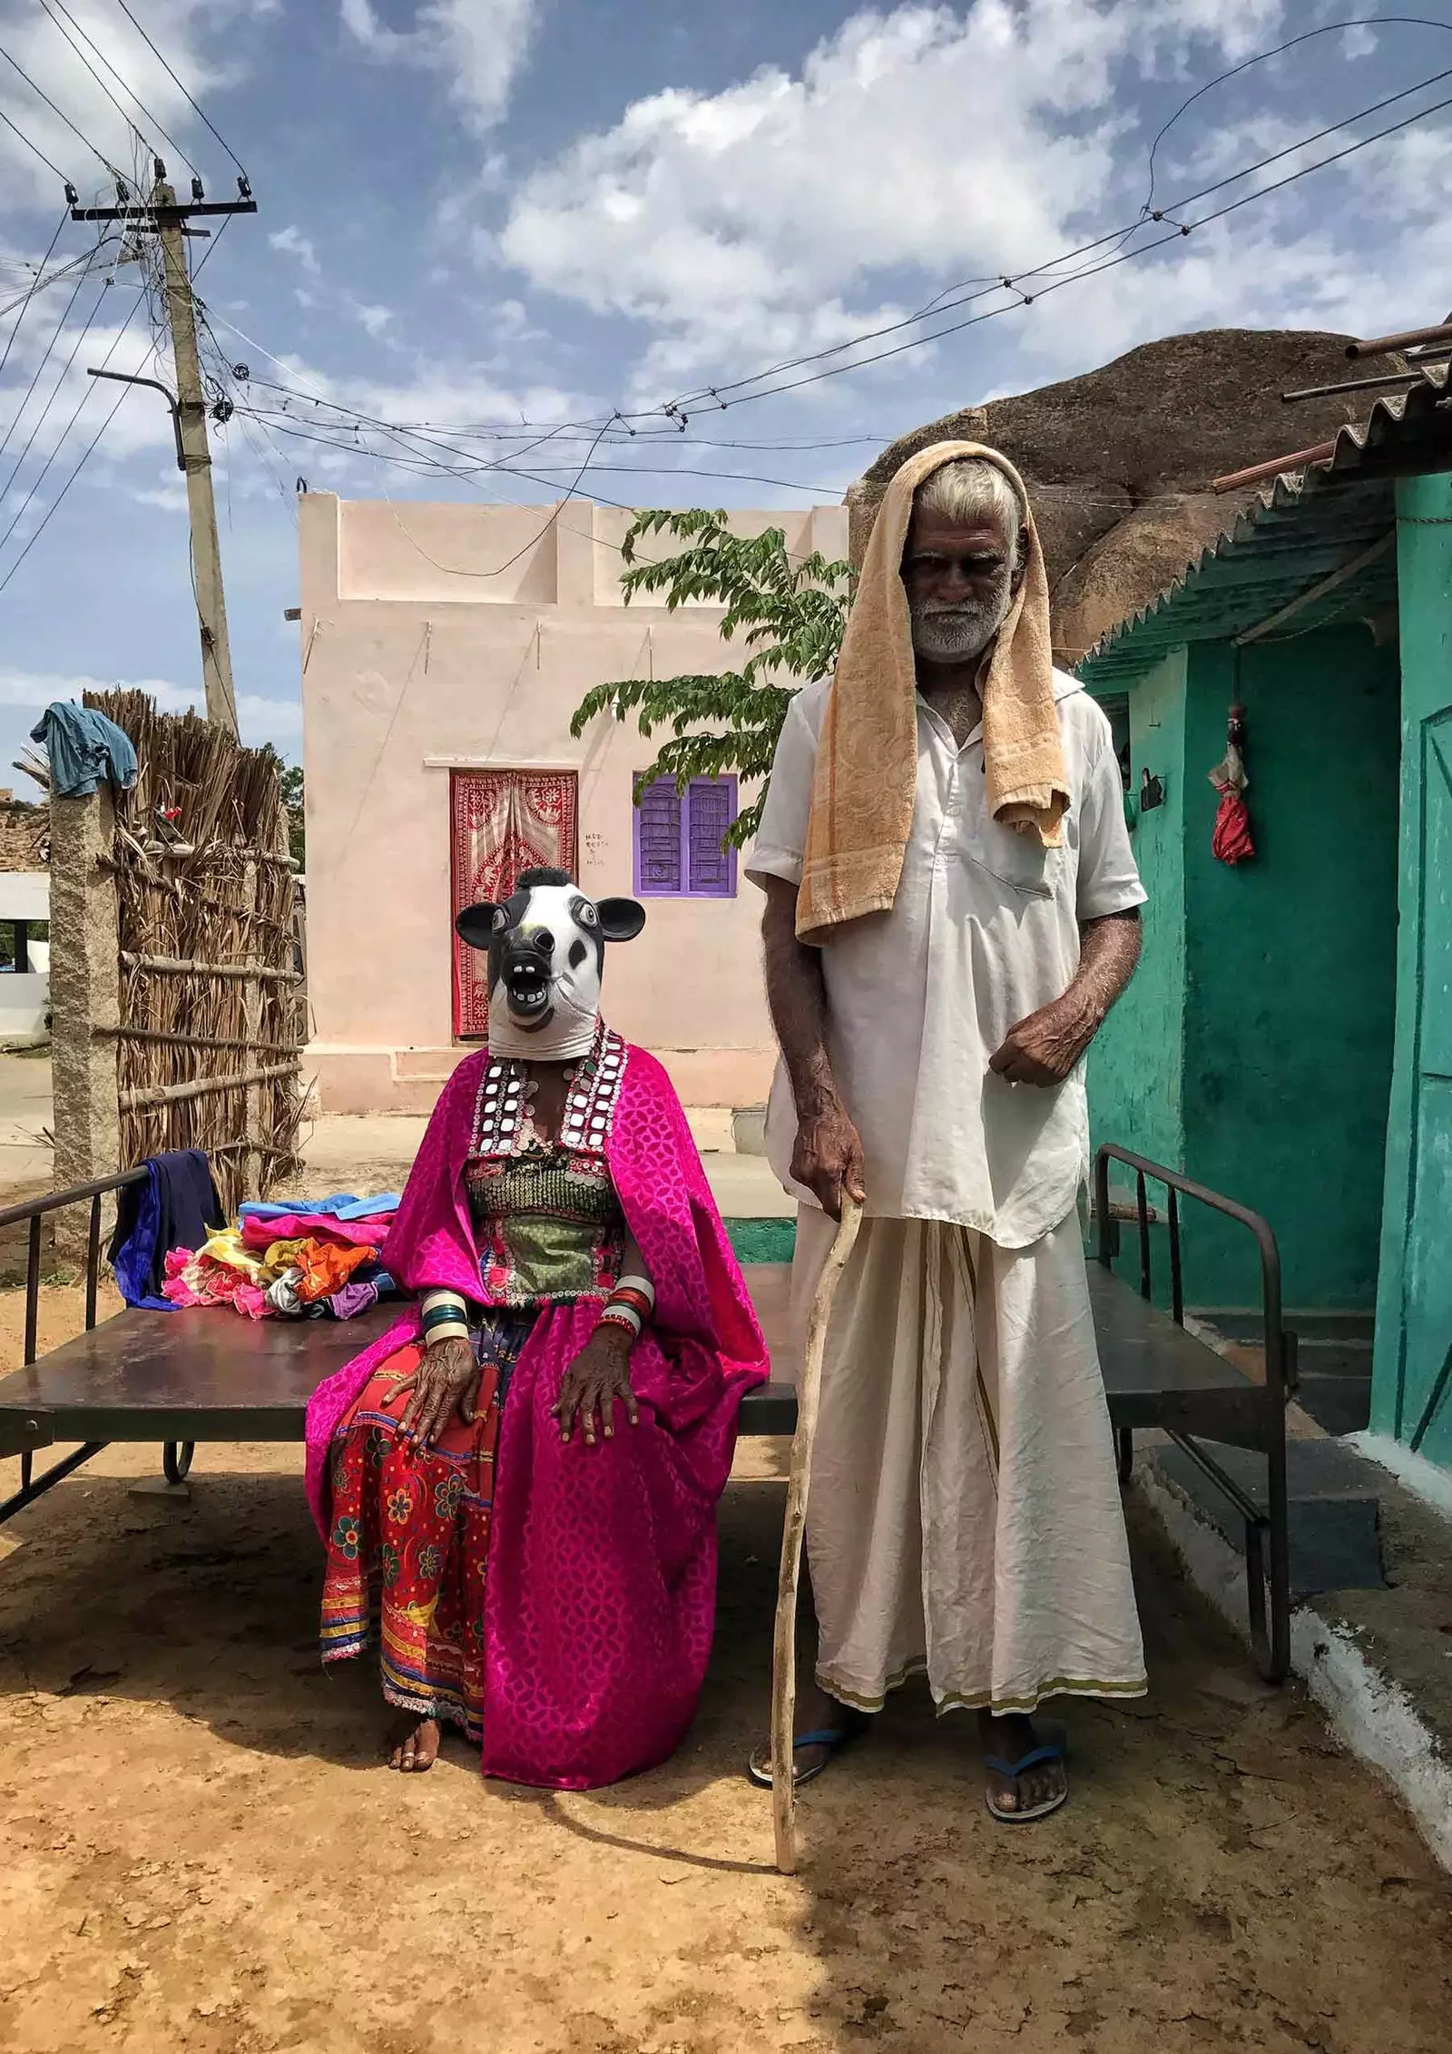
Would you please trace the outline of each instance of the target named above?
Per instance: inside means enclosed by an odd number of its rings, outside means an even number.
[[[78,1323],[47,1292],[43,1337]],[[0,1347],[16,1360],[16,1296]],[[904,1695],[770,1867],[782,1450],[723,1504],[721,1623],[682,1754],[555,1795],[462,1746],[390,1775],[361,1664],[324,1674],[294,1450],[199,1448],[191,1497],[109,1450],[0,1528],[0,2046],[189,2054],[1434,2054],[1452,1881],[1392,1793],[1134,1518],[1154,1695],[1070,1707],[1074,1797],[994,1826],[967,1729]],[[0,1465],[0,1493],[14,1462]],[[1438,2023],[1442,2021],[1442,2023]]]

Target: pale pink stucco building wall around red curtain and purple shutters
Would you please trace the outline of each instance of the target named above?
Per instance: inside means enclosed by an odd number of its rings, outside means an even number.
[[[571,713],[614,678],[729,670],[719,608],[622,604],[628,514],[300,499],[310,1070],[324,1111],[425,1111],[483,1025],[456,904],[518,861],[637,891],[610,1021],[688,1105],[760,1105],[772,1066],[760,900],[719,854],[727,785],[633,805],[635,725]],[[846,555],[846,509],[737,514]]]

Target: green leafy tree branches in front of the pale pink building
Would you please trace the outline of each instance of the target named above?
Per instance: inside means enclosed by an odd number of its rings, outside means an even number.
[[[674,557],[639,557],[645,536],[686,542]],[[672,729],[655,762],[637,778],[635,801],[653,778],[672,776],[684,791],[692,776],[766,778],[787,707],[803,684],[826,678],[836,663],[852,596],[852,567],[819,550],[791,557],[780,528],[758,536],[731,534],[723,511],[655,509],[637,514],[620,544],[628,565],[620,579],[626,606],[637,592],[663,594],[674,612],[688,600],[725,606],[723,641],[737,635],[750,651],[739,670],[719,676],[624,678],[589,690],[569,723],[579,735],[602,713],[635,715],[643,735]],[[762,793],[764,797],[764,793]],[[727,844],[748,842],[762,815],[762,797],[731,824]]]

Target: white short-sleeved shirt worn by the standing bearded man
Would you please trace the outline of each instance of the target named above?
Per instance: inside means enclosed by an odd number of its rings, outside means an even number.
[[[830,680],[791,702],[762,830],[746,873],[801,883],[817,733]],[[984,731],[959,750],[918,700],[918,797],[891,912],[821,949],[828,1054],[865,1152],[867,1212],[953,1220],[1004,1249],[1058,1226],[1088,1177],[1084,1066],[1049,1089],[988,1068],[1010,1027],[1060,998],[1078,967],[1080,920],[1144,904],[1109,721],[1054,672],[1072,803],[1064,846],[1002,828],[984,793]],[[766,1152],[791,1181],[797,1113],[785,1066]]]

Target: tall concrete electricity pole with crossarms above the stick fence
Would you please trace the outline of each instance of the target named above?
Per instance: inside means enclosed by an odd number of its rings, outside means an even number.
[[[162,251],[162,281],[166,320],[170,325],[173,366],[177,372],[177,462],[187,474],[187,511],[191,516],[191,583],[197,596],[197,626],[201,631],[201,680],[207,719],[236,735],[236,694],[232,690],[232,649],[226,633],[226,600],[222,594],[222,544],[218,540],[218,509],[212,497],[212,450],[207,446],[207,396],[201,384],[197,353],[197,304],[187,267],[185,224],[195,214],[257,214],[246,179],[238,179],[238,199],[207,201],[201,181],[193,179],[191,205],[183,205],[166,185],[166,166],[156,158],[156,183],[148,201],[133,201],[119,189],[117,207],[72,207],[78,222],[127,222],[156,234]],[[109,374],[115,376],[115,374]],[[146,384],[148,380],[127,380]]]

